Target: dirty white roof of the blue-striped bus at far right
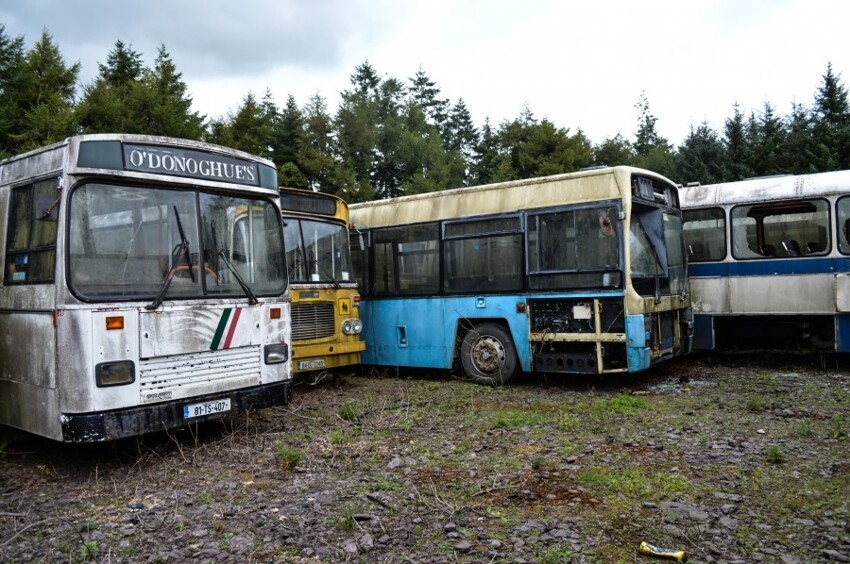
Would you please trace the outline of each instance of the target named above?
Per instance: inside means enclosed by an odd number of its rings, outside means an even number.
[[[850,193],[850,170],[786,174],[679,189],[682,209]]]

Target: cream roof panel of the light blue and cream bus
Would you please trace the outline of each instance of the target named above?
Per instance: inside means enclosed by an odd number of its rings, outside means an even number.
[[[371,228],[628,198],[632,174],[675,186],[648,170],[605,167],[352,204],[351,218],[355,227]]]

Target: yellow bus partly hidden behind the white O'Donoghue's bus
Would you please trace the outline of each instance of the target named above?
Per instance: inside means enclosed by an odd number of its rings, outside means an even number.
[[[292,297],[292,371],[319,376],[360,364],[360,294],[351,266],[348,205],[322,192],[280,189]]]

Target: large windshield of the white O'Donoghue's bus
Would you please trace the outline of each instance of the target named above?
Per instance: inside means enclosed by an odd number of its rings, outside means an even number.
[[[233,270],[257,295],[286,288],[270,201],[87,183],[69,210],[68,280],[83,300],[150,300],[166,280],[167,299],[245,295]]]

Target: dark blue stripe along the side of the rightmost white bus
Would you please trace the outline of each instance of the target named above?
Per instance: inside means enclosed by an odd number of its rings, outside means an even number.
[[[773,276],[850,271],[850,258],[802,258],[688,264],[688,276]]]

